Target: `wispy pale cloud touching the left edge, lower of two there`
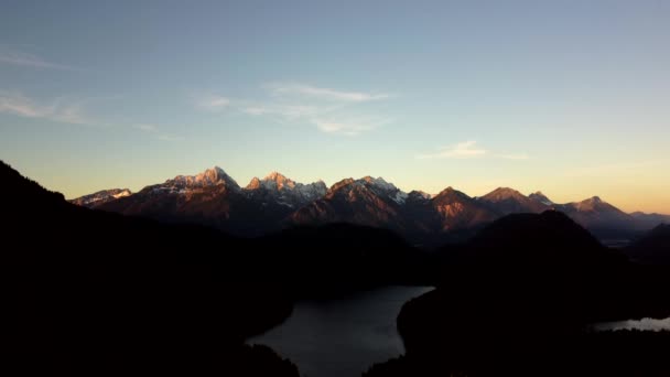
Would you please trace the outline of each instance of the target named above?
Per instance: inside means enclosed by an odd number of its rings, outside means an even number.
[[[57,98],[48,104],[40,104],[35,99],[21,94],[0,90],[0,112],[24,118],[39,118],[52,121],[100,126],[84,112],[82,101]]]

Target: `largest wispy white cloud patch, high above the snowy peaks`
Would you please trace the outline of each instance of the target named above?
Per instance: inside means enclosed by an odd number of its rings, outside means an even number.
[[[361,109],[365,103],[390,98],[389,94],[338,90],[300,83],[270,83],[261,88],[264,99],[229,99],[208,94],[197,97],[196,107],[208,111],[231,108],[249,116],[307,123],[325,133],[349,137],[392,122],[392,119],[380,119]]]

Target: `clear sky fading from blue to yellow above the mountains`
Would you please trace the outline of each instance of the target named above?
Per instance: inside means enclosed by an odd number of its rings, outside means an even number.
[[[670,1],[32,1],[0,159],[76,197],[218,165],[670,214]]]

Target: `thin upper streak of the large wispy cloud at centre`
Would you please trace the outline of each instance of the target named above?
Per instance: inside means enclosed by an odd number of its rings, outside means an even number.
[[[387,99],[390,97],[390,95],[385,93],[345,91],[299,83],[271,83],[267,84],[266,87],[274,95],[317,97],[322,99],[347,103],[366,103],[371,100]]]

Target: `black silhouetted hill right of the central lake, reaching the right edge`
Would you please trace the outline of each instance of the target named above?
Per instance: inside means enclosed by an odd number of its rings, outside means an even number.
[[[504,217],[458,254],[436,290],[403,306],[407,355],[367,376],[669,371],[659,352],[670,346],[667,334],[585,331],[601,321],[668,316],[667,270],[628,262],[559,212]]]

